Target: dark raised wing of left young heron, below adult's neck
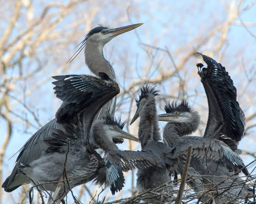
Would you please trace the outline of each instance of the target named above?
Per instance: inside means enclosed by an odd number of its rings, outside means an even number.
[[[57,98],[63,103],[56,112],[58,123],[80,122],[84,135],[89,135],[95,115],[119,92],[119,86],[105,73],[91,75],[64,75],[52,77]]]

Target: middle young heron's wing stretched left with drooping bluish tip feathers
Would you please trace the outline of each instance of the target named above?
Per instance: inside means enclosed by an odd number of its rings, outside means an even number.
[[[177,167],[179,161],[178,158],[173,157],[172,149],[156,141],[150,141],[142,151],[110,151],[105,155],[109,185],[113,188],[123,182],[122,176],[119,175],[122,171],[147,167],[167,167],[171,170]]]

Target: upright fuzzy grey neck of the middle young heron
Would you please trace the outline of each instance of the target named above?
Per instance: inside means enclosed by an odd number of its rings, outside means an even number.
[[[141,147],[149,141],[160,141],[160,128],[157,121],[156,101],[153,95],[148,95],[147,102],[140,112],[139,140]]]

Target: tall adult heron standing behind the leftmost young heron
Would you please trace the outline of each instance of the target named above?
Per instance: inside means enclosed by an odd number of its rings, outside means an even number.
[[[130,26],[119,27],[116,29],[98,26],[88,32],[79,49],[79,52],[81,52],[81,50],[84,48],[85,62],[88,68],[95,75],[98,75],[98,72],[105,72],[110,76],[110,78],[115,80],[116,77],[113,68],[103,55],[103,47],[106,43],[108,43],[111,39],[118,36],[119,34],[135,29],[142,24],[143,23],[139,23]],[[99,111],[96,118],[104,118],[109,113],[114,115],[115,106],[116,98],[112,98],[111,101]],[[21,163],[30,164],[32,161],[38,159],[42,152],[47,149],[47,145],[44,144],[43,139],[45,137],[49,137],[51,134],[50,129],[52,127],[59,129],[60,126],[61,124],[59,124],[56,119],[53,119],[37,132],[35,132],[35,134],[32,135],[31,138],[29,138],[29,140],[24,144],[24,146],[20,149],[20,153],[17,157],[16,164],[12,170],[11,175],[9,175],[9,177],[7,177],[3,182],[2,187],[6,192],[12,192],[21,185],[30,182],[26,176],[20,174],[20,172],[17,171],[17,167],[19,167]]]

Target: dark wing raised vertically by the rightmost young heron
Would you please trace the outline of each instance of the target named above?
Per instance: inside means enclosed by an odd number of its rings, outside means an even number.
[[[211,57],[206,55],[202,57],[207,63],[207,68],[202,69],[203,64],[197,64],[198,75],[204,85],[209,106],[204,137],[218,138],[227,145],[237,144],[244,133],[245,117],[236,101],[236,87],[225,67]],[[223,123],[223,128],[220,129],[219,134],[212,134],[219,123]],[[221,137],[221,135],[225,136]]]

